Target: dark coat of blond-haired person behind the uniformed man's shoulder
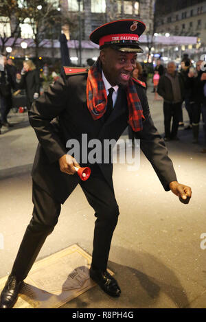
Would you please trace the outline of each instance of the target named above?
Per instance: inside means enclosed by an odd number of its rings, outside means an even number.
[[[40,78],[38,71],[34,69],[33,71],[27,71],[21,76],[21,81],[18,84],[19,89],[25,89],[27,96],[27,108],[30,106],[34,100],[34,93],[40,92]]]

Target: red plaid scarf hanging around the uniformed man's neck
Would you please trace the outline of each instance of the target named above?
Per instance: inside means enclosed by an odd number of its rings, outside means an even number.
[[[128,102],[128,124],[135,132],[142,130],[144,119],[141,102],[135,84],[130,78],[126,87],[126,97]],[[100,119],[106,112],[107,95],[102,80],[102,69],[100,58],[91,67],[87,78],[87,106],[93,119]]]

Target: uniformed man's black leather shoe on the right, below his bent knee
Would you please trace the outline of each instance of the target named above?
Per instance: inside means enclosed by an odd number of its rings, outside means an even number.
[[[98,269],[90,268],[89,276],[95,281],[104,292],[111,297],[119,297],[121,290],[114,279],[107,271],[101,271]]]

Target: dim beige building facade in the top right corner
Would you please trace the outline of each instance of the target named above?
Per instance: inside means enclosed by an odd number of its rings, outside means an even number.
[[[171,36],[191,37],[188,43],[174,43],[164,50],[165,56],[181,58],[187,54],[197,60],[206,54],[206,1],[164,1],[157,0],[155,10],[155,32],[161,36],[165,33]],[[192,42],[196,37],[196,42]],[[157,51],[161,48],[157,47]]]

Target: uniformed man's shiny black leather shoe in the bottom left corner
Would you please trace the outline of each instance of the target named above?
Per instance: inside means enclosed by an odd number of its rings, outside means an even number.
[[[0,308],[12,308],[14,306],[22,283],[22,281],[17,281],[15,276],[9,275],[1,292]]]

